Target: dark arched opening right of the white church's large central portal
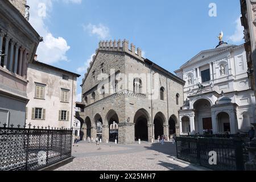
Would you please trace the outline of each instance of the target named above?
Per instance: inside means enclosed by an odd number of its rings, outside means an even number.
[[[218,132],[222,134],[230,134],[230,121],[228,113],[218,113],[217,115]]]

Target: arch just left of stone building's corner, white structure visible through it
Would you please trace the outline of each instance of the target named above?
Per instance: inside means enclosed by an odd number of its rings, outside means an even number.
[[[109,142],[115,142],[115,139],[118,142],[118,115],[114,110],[110,110],[107,114],[108,123],[109,123]]]

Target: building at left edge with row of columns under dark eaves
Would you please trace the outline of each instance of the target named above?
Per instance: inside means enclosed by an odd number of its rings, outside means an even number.
[[[0,1],[0,122],[25,123],[27,64],[42,38],[24,18],[24,0]]]

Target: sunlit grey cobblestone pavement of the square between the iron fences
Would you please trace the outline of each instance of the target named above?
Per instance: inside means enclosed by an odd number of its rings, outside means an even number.
[[[73,162],[58,171],[192,171],[193,167],[171,159],[176,156],[171,142],[141,144],[87,143],[73,146]],[[195,168],[194,168],[195,169]]]

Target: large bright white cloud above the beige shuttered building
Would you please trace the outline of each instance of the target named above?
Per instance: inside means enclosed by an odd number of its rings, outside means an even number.
[[[55,38],[48,30],[45,24],[49,20],[52,10],[53,1],[62,1],[64,3],[81,3],[82,0],[27,0],[30,6],[30,20],[29,22],[35,28],[40,36],[44,38],[38,46],[36,54],[38,60],[52,64],[58,61],[67,61],[67,51],[70,49],[67,41],[62,37]]]

